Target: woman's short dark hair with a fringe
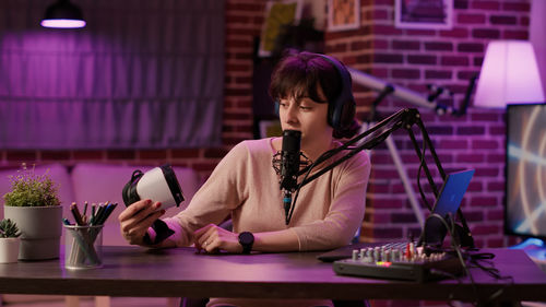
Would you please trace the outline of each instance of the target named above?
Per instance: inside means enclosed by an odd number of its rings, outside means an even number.
[[[296,102],[309,97],[319,104],[328,103],[328,122],[332,125],[330,117],[333,104],[341,95],[343,86],[348,86],[348,91],[351,91],[351,82],[345,85],[342,82],[337,69],[321,55],[290,51],[275,67],[269,92],[275,103],[288,96],[292,96]],[[325,101],[319,95],[319,86],[322,88]],[[352,138],[358,132],[360,126],[355,120],[355,104],[351,103],[344,106],[340,127],[333,132],[334,138]]]

